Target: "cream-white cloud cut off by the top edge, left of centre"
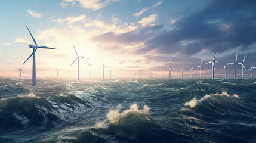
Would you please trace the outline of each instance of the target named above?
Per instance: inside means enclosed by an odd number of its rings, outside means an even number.
[[[81,7],[91,10],[99,10],[112,2],[118,1],[120,0],[106,0],[104,2],[101,2],[100,0],[63,0],[63,2],[72,2],[72,4],[74,4],[74,2],[79,2]]]

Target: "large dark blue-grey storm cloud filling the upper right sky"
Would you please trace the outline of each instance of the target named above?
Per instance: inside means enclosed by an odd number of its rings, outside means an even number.
[[[224,52],[256,42],[256,1],[211,1],[201,10],[180,18],[175,29],[160,32],[137,53],[193,55],[202,49]],[[185,42],[185,43],[184,43]]]

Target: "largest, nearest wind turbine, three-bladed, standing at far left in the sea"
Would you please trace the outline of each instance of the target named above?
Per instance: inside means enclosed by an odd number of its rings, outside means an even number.
[[[26,25],[26,24],[25,24]],[[26,25],[27,27],[27,25]],[[27,27],[27,30],[29,30],[29,28]],[[30,30],[29,30],[29,33],[30,33]],[[29,60],[29,58],[33,55],[33,73],[32,73],[32,86],[36,86],[36,50],[38,48],[42,48],[42,49],[56,49],[56,48],[49,48],[47,46],[38,46],[38,44],[36,43],[36,40],[35,38],[32,36],[32,34],[30,33],[30,36],[32,37],[34,43],[35,43],[35,46],[33,46],[33,44],[29,45],[29,48],[32,48],[33,49],[33,52],[32,54],[29,55],[29,57],[27,58],[27,60]],[[26,61],[27,61],[26,60]],[[24,63],[26,63],[26,61],[24,61]],[[23,63],[23,64],[24,64]]]

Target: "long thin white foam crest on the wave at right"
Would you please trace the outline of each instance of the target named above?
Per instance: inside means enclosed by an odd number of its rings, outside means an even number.
[[[213,97],[213,96],[226,96],[226,97],[235,97],[239,98],[237,94],[227,94],[226,91],[222,91],[221,93],[217,92],[216,94],[205,94],[204,97],[200,98],[200,100],[197,100],[196,97],[194,97],[189,102],[185,102],[185,106],[190,106],[191,108],[195,107],[199,102],[202,102],[203,100],[206,100],[207,98]]]

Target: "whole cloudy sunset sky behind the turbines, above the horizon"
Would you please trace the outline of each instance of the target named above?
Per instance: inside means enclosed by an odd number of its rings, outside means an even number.
[[[199,76],[196,67],[212,60],[226,65],[238,63],[246,55],[245,67],[256,65],[256,1],[208,0],[10,0],[0,1],[0,76],[32,76],[33,43],[53,49],[36,51],[37,77],[76,77],[78,55],[87,57],[91,77],[161,77],[161,68],[172,64],[172,76]],[[35,43],[33,43],[35,45]],[[223,77],[221,64],[215,64],[216,77]],[[80,59],[80,76],[88,78],[87,60]],[[228,66],[233,77],[234,66]],[[211,65],[203,67],[211,76]],[[168,77],[168,68],[164,77]],[[240,69],[237,68],[238,76]],[[249,77],[251,71],[245,71]]]

